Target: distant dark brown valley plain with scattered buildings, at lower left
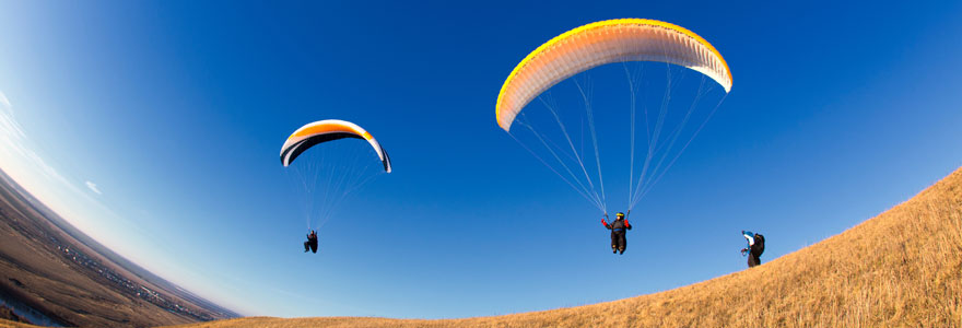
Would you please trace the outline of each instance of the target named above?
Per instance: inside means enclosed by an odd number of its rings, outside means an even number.
[[[54,321],[84,327],[146,327],[228,317],[168,292],[75,239],[23,192],[0,172],[0,295]],[[155,300],[173,305],[160,306],[138,295],[148,289],[162,297]],[[185,309],[171,311],[174,305]],[[0,318],[19,316],[0,306]],[[15,325],[0,319],[0,327],[21,327]]]

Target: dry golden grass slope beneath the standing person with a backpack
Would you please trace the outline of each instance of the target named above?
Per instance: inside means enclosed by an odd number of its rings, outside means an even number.
[[[178,327],[962,327],[962,168],[760,267],[656,294],[465,319],[248,317]]]

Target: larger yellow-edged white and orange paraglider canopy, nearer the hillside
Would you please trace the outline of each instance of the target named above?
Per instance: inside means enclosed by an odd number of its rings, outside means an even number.
[[[505,131],[521,109],[552,85],[585,70],[619,61],[661,61],[699,71],[731,90],[731,72],[718,50],[684,27],[655,20],[621,19],[565,32],[528,54],[497,95],[495,117]]]

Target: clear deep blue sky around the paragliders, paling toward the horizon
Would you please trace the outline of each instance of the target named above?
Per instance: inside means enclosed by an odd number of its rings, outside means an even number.
[[[623,256],[598,210],[493,115],[529,51],[615,17],[688,27],[734,75],[633,211]],[[0,43],[0,168],[119,254],[246,315],[465,317],[668,290],[742,270],[740,230],[765,234],[767,261],[962,165],[952,1],[3,1]],[[326,118],[369,130],[395,173],[340,206],[304,255],[277,156]]]

